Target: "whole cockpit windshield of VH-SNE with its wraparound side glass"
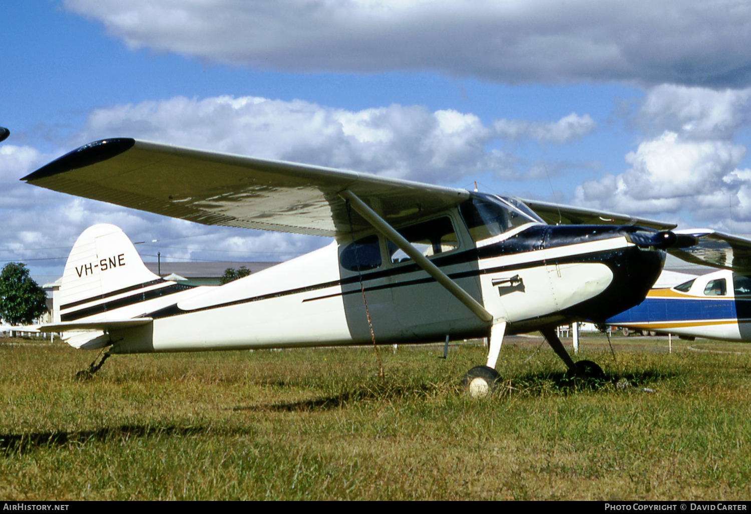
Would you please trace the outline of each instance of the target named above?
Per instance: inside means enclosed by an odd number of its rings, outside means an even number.
[[[517,198],[472,193],[459,210],[475,242],[487,239],[526,223],[544,221]]]

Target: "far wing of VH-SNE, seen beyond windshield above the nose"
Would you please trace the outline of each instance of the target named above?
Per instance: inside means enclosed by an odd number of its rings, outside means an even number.
[[[523,198],[520,198],[520,200],[550,225],[638,225],[656,228],[657,230],[671,230],[677,226],[674,223],[609,213],[605,210],[570,207],[568,205],[551,204],[547,201],[524,200]]]

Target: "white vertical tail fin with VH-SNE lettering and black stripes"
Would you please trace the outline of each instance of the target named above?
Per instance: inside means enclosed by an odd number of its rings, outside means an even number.
[[[115,309],[121,318],[137,316],[137,309],[123,312],[127,302],[122,298],[132,298],[159,283],[164,280],[143,265],[119,227],[92,225],[80,234],[68,255],[59,292],[60,321],[107,319],[107,313]]]

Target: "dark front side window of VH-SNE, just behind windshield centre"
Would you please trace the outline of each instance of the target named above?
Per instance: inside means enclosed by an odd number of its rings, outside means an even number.
[[[538,222],[511,207],[476,196],[460,204],[459,210],[466,222],[469,235],[475,242],[502,234],[525,223]]]

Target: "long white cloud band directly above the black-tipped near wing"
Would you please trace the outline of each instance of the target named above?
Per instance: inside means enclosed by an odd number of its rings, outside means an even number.
[[[127,135],[430,183],[487,172],[522,180],[529,170],[516,157],[487,148],[509,137],[508,130],[499,129],[504,122],[484,125],[472,113],[430,112],[415,105],[353,112],[301,100],[178,97],[95,110],[77,142]],[[527,123],[513,137],[563,144],[594,127],[590,116],[572,114],[556,122]]]

